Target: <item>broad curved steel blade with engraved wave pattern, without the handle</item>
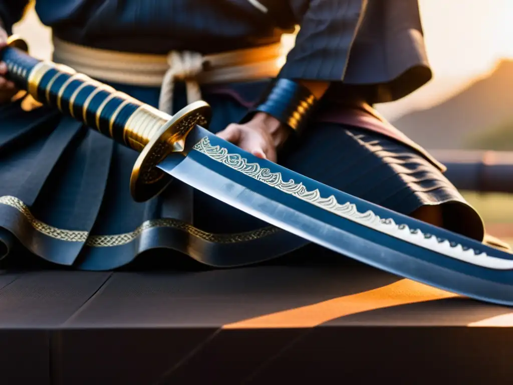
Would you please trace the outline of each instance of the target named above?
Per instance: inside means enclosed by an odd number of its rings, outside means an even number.
[[[258,159],[196,126],[160,165],[274,226],[392,274],[513,305],[513,255]]]

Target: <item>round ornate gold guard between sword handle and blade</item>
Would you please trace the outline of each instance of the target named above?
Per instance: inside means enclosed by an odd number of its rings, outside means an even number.
[[[172,177],[156,165],[171,152],[182,152],[187,135],[192,128],[195,125],[206,127],[210,118],[210,105],[199,101],[189,104],[174,114],[150,138],[142,137],[143,132],[152,131],[141,126],[144,122],[151,121],[147,117],[139,123],[133,120],[127,122],[127,126],[131,127],[125,129],[125,141],[134,149],[137,149],[136,146],[142,147],[138,149],[141,154],[135,162],[130,178],[130,194],[136,202],[145,202],[159,195],[171,183]],[[134,132],[134,127],[137,132]]]

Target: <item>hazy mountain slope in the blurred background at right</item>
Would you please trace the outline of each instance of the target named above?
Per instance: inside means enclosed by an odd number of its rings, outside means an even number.
[[[393,121],[429,149],[464,148],[469,138],[513,121],[513,61],[502,60],[488,76],[441,104]]]

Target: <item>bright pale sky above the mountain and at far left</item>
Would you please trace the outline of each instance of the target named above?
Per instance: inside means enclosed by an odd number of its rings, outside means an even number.
[[[380,0],[373,0],[380,1]],[[419,0],[435,79],[412,95],[380,106],[388,119],[439,103],[501,57],[513,60],[513,0]],[[29,14],[16,32],[36,56],[49,55],[49,33]]]

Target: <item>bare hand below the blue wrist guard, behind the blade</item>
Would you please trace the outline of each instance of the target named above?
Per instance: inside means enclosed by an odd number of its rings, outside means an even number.
[[[245,124],[230,124],[218,137],[239,146],[255,157],[277,161],[277,148],[287,140],[289,128],[265,112],[258,112]]]

